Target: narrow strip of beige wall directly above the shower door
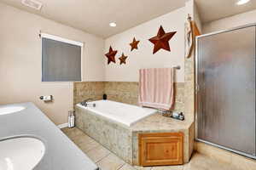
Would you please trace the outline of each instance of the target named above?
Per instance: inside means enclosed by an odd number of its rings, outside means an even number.
[[[236,26],[243,26],[247,24],[256,23],[256,10],[252,10],[242,14],[236,14],[221,20],[214,20],[203,25],[203,33],[212,31],[221,31],[224,29],[233,28]]]

